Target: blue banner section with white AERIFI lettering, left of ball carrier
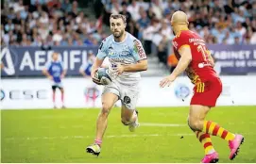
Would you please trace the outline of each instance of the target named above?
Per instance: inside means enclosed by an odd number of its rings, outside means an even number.
[[[67,68],[67,75],[78,75],[79,68],[87,62],[87,53],[97,53],[97,46],[59,46],[51,50],[43,50],[41,47],[9,46],[1,49],[1,76],[41,76],[43,67],[51,60],[54,51],[60,53],[60,59]]]

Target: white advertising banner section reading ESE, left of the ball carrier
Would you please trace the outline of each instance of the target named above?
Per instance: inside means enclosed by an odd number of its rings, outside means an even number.
[[[51,82],[44,79],[2,79],[1,108],[53,108]],[[65,107],[100,107],[100,90],[85,78],[63,79]],[[90,96],[87,96],[90,95]],[[93,101],[93,95],[96,99]],[[56,104],[61,107],[60,90],[56,91]]]

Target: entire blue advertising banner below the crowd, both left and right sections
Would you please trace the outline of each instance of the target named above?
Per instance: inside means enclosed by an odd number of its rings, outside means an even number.
[[[221,74],[256,73],[256,45],[208,45],[212,56],[221,67]],[[1,76],[41,76],[43,67],[53,51],[60,53],[67,75],[78,75],[81,64],[87,62],[87,53],[97,53],[97,46],[58,46],[51,50],[41,47],[9,46],[1,48]]]

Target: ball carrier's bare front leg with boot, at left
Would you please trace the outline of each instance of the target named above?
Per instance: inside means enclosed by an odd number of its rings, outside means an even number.
[[[105,92],[102,95],[102,108],[98,115],[96,122],[96,137],[94,143],[86,148],[86,152],[98,156],[100,154],[100,146],[102,139],[107,128],[108,116],[111,111],[111,107],[118,100],[118,96],[111,92]]]

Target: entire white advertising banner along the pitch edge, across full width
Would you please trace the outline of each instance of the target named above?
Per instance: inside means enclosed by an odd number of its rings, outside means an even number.
[[[193,84],[187,77],[179,77],[170,87],[161,89],[162,77],[143,77],[138,107],[189,106]],[[219,106],[256,106],[256,76],[222,76],[223,92]],[[96,86],[90,78],[63,79],[65,106],[70,108],[101,107],[103,87]],[[60,90],[56,95],[61,107]],[[43,79],[2,79],[2,109],[52,108],[51,82]]]

